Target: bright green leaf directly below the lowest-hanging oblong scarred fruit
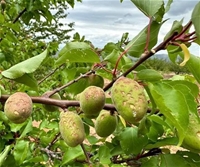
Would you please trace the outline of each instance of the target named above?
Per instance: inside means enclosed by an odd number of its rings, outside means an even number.
[[[69,147],[65,153],[64,153],[64,156],[63,156],[63,159],[62,159],[62,165],[65,165],[67,163],[69,163],[70,161],[73,161],[75,158],[83,155],[83,150],[81,148],[80,145],[78,145],[77,147]]]

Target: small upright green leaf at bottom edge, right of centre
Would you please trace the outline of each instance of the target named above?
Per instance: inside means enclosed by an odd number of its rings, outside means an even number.
[[[99,161],[101,164],[110,164],[111,163],[111,154],[110,149],[107,146],[100,146],[99,147]]]

